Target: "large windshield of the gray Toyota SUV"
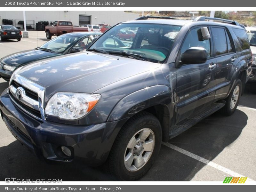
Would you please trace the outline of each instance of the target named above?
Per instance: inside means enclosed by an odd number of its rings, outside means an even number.
[[[181,26],[144,23],[123,23],[104,33],[89,50],[163,63],[172,49]],[[120,54],[123,53],[123,54]],[[138,58],[136,57],[136,58]]]

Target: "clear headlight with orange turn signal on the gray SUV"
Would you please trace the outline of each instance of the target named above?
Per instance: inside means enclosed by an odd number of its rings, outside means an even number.
[[[75,120],[89,113],[99,100],[99,94],[57,92],[44,111],[46,115]]]

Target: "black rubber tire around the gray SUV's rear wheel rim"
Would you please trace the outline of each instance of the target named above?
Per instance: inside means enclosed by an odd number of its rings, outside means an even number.
[[[234,90],[236,89],[237,86],[239,87],[238,99],[236,100],[235,106],[232,108],[231,100],[234,97],[233,93],[234,93]],[[237,79],[233,89],[229,93],[228,97],[225,99],[226,100],[226,105],[221,109],[222,113],[224,115],[230,116],[235,112],[235,110],[237,108],[237,105],[239,103],[240,97],[241,97],[241,93],[242,93],[242,81],[240,79]]]

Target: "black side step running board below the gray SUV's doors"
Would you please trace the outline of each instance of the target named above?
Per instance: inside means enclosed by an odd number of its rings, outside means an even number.
[[[224,107],[225,102],[222,103],[213,103],[212,105],[205,108],[201,113],[190,117],[189,119],[186,119],[182,121],[179,124],[176,124],[174,127],[171,128],[169,132],[169,139],[172,139],[173,137],[176,137],[180,133],[186,131],[188,128],[194,126],[202,119],[212,115],[216,111],[218,111],[220,108]]]

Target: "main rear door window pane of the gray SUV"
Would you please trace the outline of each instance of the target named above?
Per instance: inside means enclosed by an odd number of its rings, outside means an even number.
[[[228,44],[226,39],[226,31],[224,28],[212,28],[212,36],[215,46],[215,54],[221,55],[228,53]]]

